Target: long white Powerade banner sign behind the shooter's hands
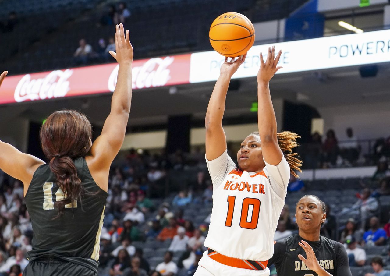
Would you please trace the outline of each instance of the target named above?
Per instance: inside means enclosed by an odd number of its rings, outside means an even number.
[[[390,62],[390,30],[381,30],[253,46],[233,78],[256,76],[259,53],[266,58],[272,45],[283,50],[277,74]],[[191,54],[190,83],[216,80],[223,60],[215,51]]]

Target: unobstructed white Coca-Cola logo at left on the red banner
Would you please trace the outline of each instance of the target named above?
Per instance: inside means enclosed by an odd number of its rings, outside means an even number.
[[[73,74],[73,70],[55,70],[47,74],[44,78],[31,79],[27,74],[21,78],[16,85],[14,98],[20,103],[23,101],[44,100],[66,96],[69,92],[68,78]]]

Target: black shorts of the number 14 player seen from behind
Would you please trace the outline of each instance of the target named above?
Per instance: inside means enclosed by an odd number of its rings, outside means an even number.
[[[34,260],[29,262],[23,276],[97,276],[92,269],[62,260]]]

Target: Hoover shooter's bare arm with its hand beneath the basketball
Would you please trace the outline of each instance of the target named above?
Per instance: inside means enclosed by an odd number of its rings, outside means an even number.
[[[206,111],[206,158],[214,160],[226,150],[226,136],[222,128],[223,113],[225,113],[225,101],[230,79],[236,73],[238,67],[245,61],[246,54],[236,60],[232,58],[221,66],[221,73],[215,83]]]

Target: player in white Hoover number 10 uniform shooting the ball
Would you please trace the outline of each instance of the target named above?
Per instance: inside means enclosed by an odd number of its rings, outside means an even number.
[[[251,133],[237,152],[238,166],[227,154],[222,128],[230,78],[245,62],[227,58],[221,66],[206,113],[206,162],[213,182],[213,211],[203,254],[195,276],[265,276],[273,255],[273,235],[284,206],[290,173],[301,161],[291,150],[295,133],[277,133],[269,81],[281,68],[275,48],[260,54],[257,74],[259,132]]]

